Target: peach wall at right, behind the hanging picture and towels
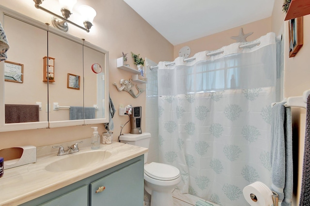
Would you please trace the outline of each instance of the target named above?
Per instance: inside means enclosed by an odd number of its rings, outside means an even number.
[[[289,40],[288,40],[288,21],[284,21],[285,14],[281,11],[282,0],[275,0],[274,11],[272,15],[272,28],[275,32],[281,30],[283,32],[284,47],[284,97],[302,96],[305,90],[310,89],[310,15],[303,17],[303,46],[297,55],[289,58]],[[294,199],[293,205],[297,206],[300,196],[303,153],[305,146],[305,125],[306,125],[306,109],[292,108],[293,118],[293,141],[298,147],[293,151],[294,156],[298,155],[293,162],[298,162],[297,169],[294,174],[297,175],[294,182]]]

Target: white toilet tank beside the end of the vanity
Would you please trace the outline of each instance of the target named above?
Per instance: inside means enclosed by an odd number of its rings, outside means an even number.
[[[149,148],[151,140],[151,134],[144,132],[141,134],[123,134],[120,136],[120,141],[125,144],[135,145],[139,147]],[[144,163],[147,162],[147,153],[144,154]]]

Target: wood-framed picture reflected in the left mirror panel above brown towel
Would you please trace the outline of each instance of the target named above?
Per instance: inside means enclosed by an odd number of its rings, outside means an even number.
[[[4,61],[4,80],[8,82],[24,82],[24,64]]]

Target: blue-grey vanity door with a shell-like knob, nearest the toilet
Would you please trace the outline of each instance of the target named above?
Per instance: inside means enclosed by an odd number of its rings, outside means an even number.
[[[90,184],[90,206],[143,206],[143,161],[130,164]],[[99,187],[106,187],[97,192]]]

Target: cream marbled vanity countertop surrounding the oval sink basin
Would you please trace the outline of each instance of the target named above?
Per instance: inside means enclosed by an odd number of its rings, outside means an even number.
[[[66,148],[66,145],[62,146]],[[40,147],[37,148],[36,163],[4,170],[3,177],[0,177],[0,205],[12,206],[28,202],[136,158],[148,151],[148,149],[144,147],[137,147],[119,142],[112,142],[112,144],[109,145],[100,144],[100,148],[93,151],[104,150],[112,153],[108,159],[102,161],[102,163],[100,162],[100,164],[93,164],[91,166],[64,172],[48,172],[45,170],[45,167],[51,162],[55,162],[69,155],[77,155],[78,153],[92,151],[89,144],[83,143],[78,146],[80,149],[79,152],[64,156],[57,156],[58,150],[51,149],[51,146]]]

